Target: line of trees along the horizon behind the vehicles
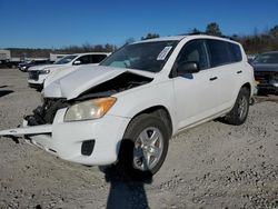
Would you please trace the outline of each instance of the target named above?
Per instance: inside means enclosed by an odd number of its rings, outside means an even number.
[[[217,22],[210,22],[207,24],[206,30],[201,31],[197,28],[189,30],[188,33],[203,33],[211,34],[217,37],[225,37],[221,32],[220,27]],[[141,37],[141,40],[159,38],[158,33],[147,33],[145,37]],[[229,38],[240,42],[247,53],[260,53],[265,51],[278,50],[278,26],[272,27],[265,32],[255,31],[254,34],[240,36],[232,34]],[[126,40],[125,44],[135,42],[135,38],[129,38]],[[11,51],[12,57],[17,58],[43,58],[49,57],[49,53],[82,53],[88,51],[98,51],[98,52],[112,52],[117,50],[115,44],[90,44],[85,43],[82,46],[69,46],[60,49],[29,49],[29,48],[8,48]]]

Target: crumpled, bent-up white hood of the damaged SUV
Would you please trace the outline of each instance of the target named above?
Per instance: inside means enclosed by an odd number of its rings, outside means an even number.
[[[67,98],[70,100],[78,97],[86,90],[110,80],[126,71],[128,70],[122,68],[83,66],[82,68],[47,86],[43,90],[43,94],[44,97]]]

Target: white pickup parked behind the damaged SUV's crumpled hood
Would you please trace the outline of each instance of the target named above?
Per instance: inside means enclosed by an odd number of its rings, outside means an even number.
[[[29,78],[28,83],[30,87],[41,89],[43,82],[50,72],[53,72],[58,69],[71,66],[89,64],[89,63],[99,63],[110,53],[106,52],[91,52],[91,53],[77,53],[69,54],[58,60],[53,64],[37,66],[28,70]]]

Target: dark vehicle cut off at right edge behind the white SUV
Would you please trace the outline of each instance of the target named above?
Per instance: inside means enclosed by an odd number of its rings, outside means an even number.
[[[278,93],[278,51],[259,54],[252,66],[258,93]]]

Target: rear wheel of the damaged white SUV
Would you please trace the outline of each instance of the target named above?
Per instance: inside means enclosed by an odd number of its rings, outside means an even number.
[[[249,99],[250,91],[245,87],[241,88],[234,108],[225,118],[228,123],[239,126],[246,121],[249,111]]]

